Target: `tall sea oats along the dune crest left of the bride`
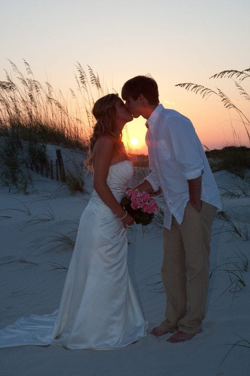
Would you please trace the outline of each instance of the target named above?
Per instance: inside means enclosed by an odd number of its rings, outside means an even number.
[[[104,94],[98,74],[90,67],[86,74],[76,64],[77,93],[70,89],[73,109],[60,90],[57,95],[49,82],[42,85],[34,78],[25,60],[26,76],[12,61],[9,63],[12,73],[5,70],[5,80],[0,81],[0,135],[14,132],[18,139],[32,140],[32,145],[40,142],[87,150],[88,134],[94,123],[91,108]]]

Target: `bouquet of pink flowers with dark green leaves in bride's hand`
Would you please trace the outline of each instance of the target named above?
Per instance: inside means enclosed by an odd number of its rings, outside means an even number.
[[[154,218],[154,212],[160,210],[156,199],[138,189],[127,190],[125,196],[121,199],[121,206],[132,215],[135,223],[141,223],[142,226],[151,223]],[[125,228],[120,231],[119,235],[122,235],[124,231]]]

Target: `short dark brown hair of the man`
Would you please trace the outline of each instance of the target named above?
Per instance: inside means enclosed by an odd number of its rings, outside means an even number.
[[[136,76],[124,83],[121,89],[121,97],[127,100],[132,97],[138,99],[139,94],[147,99],[149,105],[159,104],[159,92],[156,81],[148,74],[147,76]]]

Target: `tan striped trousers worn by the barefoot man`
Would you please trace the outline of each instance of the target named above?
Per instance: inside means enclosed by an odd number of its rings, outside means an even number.
[[[202,202],[198,213],[187,203],[178,224],[172,216],[171,229],[163,227],[162,282],[166,291],[165,332],[189,334],[202,331],[209,285],[209,254],[213,218],[217,208]],[[187,277],[188,276],[188,277]]]

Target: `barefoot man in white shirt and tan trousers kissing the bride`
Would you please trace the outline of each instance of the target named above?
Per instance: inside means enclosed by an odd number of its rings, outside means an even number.
[[[191,121],[159,104],[156,81],[136,76],[124,83],[121,96],[134,118],[147,119],[146,144],[151,173],[137,185],[164,193],[162,282],[166,320],[151,334],[175,332],[167,341],[190,340],[202,331],[209,284],[213,218],[220,195]]]

